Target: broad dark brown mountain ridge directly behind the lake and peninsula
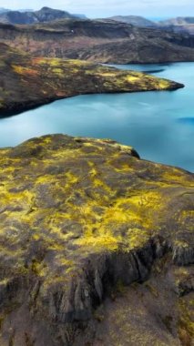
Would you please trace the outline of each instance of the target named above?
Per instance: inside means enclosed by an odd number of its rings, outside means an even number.
[[[35,56],[101,63],[194,61],[194,37],[113,20],[61,19],[20,27],[0,24],[0,41]]]

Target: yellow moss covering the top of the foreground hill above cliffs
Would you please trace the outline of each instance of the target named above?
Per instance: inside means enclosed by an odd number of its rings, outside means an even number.
[[[30,244],[41,249],[52,265],[35,259],[32,270],[44,277],[47,273],[47,287],[60,270],[64,273],[59,281],[73,275],[80,256],[142,248],[168,218],[179,227],[184,222],[184,230],[192,226],[194,212],[187,210],[191,204],[186,196],[190,175],[124,156],[131,148],[107,139],[79,139],[68,138],[67,145],[62,141],[57,149],[52,149],[54,137],[33,139],[24,145],[25,152],[43,146],[44,154],[30,157],[27,164],[26,158],[11,158],[8,149],[0,150],[0,235],[5,239],[0,251],[12,260],[13,270],[26,274]],[[186,210],[179,209],[181,203],[174,210],[183,193]],[[175,241],[176,227],[168,232]]]

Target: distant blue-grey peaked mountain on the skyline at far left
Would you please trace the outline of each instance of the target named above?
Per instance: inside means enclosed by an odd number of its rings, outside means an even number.
[[[0,22],[7,24],[29,25],[34,23],[50,22],[61,18],[75,18],[66,11],[60,11],[49,7],[43,7],[39,11],[19,12],[9,11],[0,15]]]

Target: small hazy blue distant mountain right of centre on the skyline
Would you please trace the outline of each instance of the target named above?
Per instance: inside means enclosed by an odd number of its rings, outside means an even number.
[[[109,19],[116,20],[117,22],[128,23],[131,25],[142,26],[142,27],[157,26],[156,23],[139,15],[115,15],[110,17]]]

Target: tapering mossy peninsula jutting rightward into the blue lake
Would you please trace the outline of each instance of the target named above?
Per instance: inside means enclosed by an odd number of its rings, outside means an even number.
[[[175,90],[183,85],[79,60],[32,57],[0,44],[0,116],[80,94]]]

